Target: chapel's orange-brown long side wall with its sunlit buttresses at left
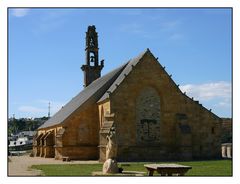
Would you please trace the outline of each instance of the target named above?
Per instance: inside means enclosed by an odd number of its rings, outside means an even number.
[[[38,134],[53,131],[54,146],[40,146],[40,156],[54,156],[56,159],[98,159],[99,120],[98,107],[85,104],[56,127],[40,129]],[[64,129],[64,131],[62,131]],[[59,133],[62,131],[62,133]],[[37,148],[34,148],[37,151]]]

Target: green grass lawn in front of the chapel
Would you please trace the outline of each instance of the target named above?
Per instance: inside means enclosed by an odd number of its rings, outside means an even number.
[[[170,162],[158,162],[170,163]],[[192,166],[186,176],[232,176],[231,160],[208,160],[191,162],[174,162]],[[146,172],[143,166],[146,162],[130,162],[122,164],[124,171]],[[93,171],[101,171],[103,164],[60,164],[60,165],[33,165],[33,169],[42,170],[44,176],[91,176]],[[119,163],[121,165],[121,163]],[[155,172],[155,176],[158,174]]]

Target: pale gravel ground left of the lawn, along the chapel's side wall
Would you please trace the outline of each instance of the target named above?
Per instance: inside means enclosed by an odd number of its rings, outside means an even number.
[[[41,171],[31,169],[32,165],[41,164],[96,164],[97,160],[63,162],[54,158],[30,157],[28,155],[10,156],[8,176],[40,176]]]

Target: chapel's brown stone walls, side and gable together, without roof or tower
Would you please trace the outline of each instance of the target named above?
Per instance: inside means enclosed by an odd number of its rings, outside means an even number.
[[[108,100],[88,101],[62,124],[38,131],[53,131],[54,152],[44,145],[34,150],[40,156],[54,153],[56,159],[98,159],[100,154],[104,161],[102,129],[114,123],[119,161],[219,158],[221,119],[183,94],[151,53],[132,67]]]

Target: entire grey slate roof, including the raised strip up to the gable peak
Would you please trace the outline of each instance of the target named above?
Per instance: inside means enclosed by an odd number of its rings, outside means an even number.
[[[63,121],[66,120],[74,111],[84,106],[86,102],[91,101],[91,103],[97,103],[109,98],[109,93],[113,93],[115,91],[117,86],[120,85],[125,77],[132,71],[134,66],[138,64],[143,56],[147,53],[152,54],[149,49],[146,49],[144,52],[139,54],[137,57],[129,60],[124,65],[93,81],[89,86],[87,86],[77,96],[70,100],[70,102],[68,102],[62,109],[60,109],[54,116],[47,120],[38,129],[63,123]],[[173,83],[175,84],[174,81]],[[186,94],[184,95],[188,97]]]

